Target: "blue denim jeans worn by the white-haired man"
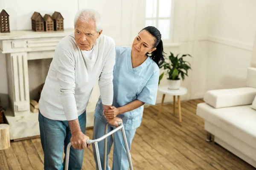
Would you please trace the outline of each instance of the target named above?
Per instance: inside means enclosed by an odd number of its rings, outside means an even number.
[[[85,134],[86,112],[79,117],[81,131]],[[65,169],[65,158],[62,163],[62,153],[66,154],[67,144],[71,139],[70,127],[67,121],[47,119],[40,111],[38,115],[41,144],[44,150],[44,170]],[[81,170],[84,150],[76,150],[70,147],[69,170]]]

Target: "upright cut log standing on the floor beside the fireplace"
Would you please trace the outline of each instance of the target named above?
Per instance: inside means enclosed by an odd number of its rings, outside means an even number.
[[[10,146],[10,126],[8,124],[0,124],[0,150],[8,149]]]

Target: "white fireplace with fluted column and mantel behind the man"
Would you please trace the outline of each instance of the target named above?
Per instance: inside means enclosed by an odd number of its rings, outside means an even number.
[[[0,50],[6,54],[10,107],[5,113],[11,140],[40,135],[38,113],[30,112],[30,97],[36,97],[39,85],[45,81],[56,45],[72,33],[73,29],[0,34]],[[93,127],[93,111],[99,97],[98,85],[95,86],[87,106],[87,127]]]

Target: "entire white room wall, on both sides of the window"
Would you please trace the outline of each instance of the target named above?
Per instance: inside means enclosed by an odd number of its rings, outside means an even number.
[[[145,0],[0,0],[10,15],[11,31],[30,30],[34,11],[42,16],[59,11],[64,17],[64,28],[72,28],[78,9],[94,8],[102,15],[103,33],[113,37],[116,45],[124,46],[130,45],[144,26],[144,3]],[[164,51],[166,57],[170,51],[193,56],[188,58],[192,71],[182,82],[189,92],[181,99],[201,98],[209,89],[245,84],[256,27],[255,7],[254,0],[176,0],[176,45],[164,44]],[[0,94],[8,94],[5,63],[4,55],[0,54]],[[161,85],[165,84],[166,77],[161,80]],[[97,88],[93,89],[94,94],[99,94]],[[159,93],[157,103],[161,96]],[[97,99],[96,95],[90,100]],[[169,101],[172,96],[166,97],[166,102]]]

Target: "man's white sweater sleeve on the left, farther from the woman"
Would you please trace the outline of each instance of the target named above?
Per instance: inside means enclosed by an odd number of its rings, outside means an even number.
[[[60,46],[57,46],[54,57],[65,116],[68,121],[77,119],[76,99],[74,96],[76,88],[75,59],[70,52]]]

